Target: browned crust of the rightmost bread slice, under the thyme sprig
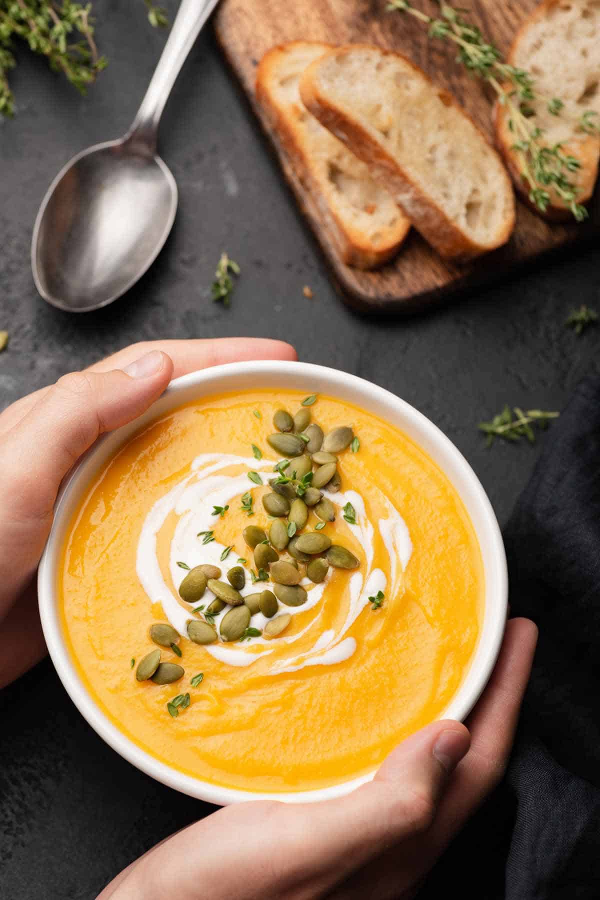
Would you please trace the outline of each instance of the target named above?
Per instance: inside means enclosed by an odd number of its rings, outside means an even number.
[[[515,38],[508,51],[506,62],[511,65],[515,64],[515,58],[518,53],[519,46],[525,40],[527,31],[541,19],[551,12],[552,8],[558,6],[561,0],[542,0],[542,3],[535,7],[533,13],[529,15],[524,23],[521,24],[515,33]],[[551,203],[548,209],[542,212],[538,206],[529,199],[530,188],[521,175],[520,156],[512,149],[515,143],[515,135],[508,127],[508,114],[506,107],[502,103],[496,101],[492,112],[492,121],[496,136],[496,145],[505,160],[506,167],[515,184],[518,193],[524,199],[527,206],[549,221],[566,221],[573,218],[569,206],[556,193],[551,193]],[[575,156],[581,162],[581,168],[578,170],[577,177],[571,173],[570,180],[578,184],[578,203],[587,203],[594,193],[596,186],[596,178],[598,176],[598,158],[600,156],[600,139],[593,135],[587,135],[586,138],[578,140],[574,143],[566,143],[563,145],[566,154]]]

